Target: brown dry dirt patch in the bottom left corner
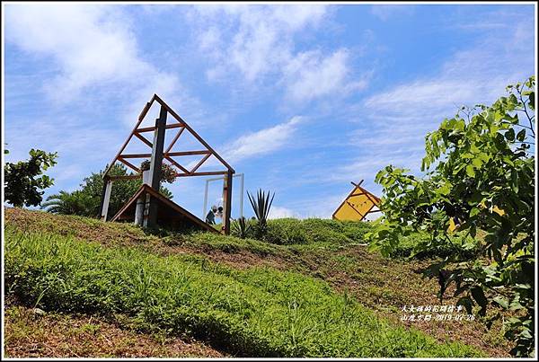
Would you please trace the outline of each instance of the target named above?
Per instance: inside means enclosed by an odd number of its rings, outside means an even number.
[[[4,336],[9,358],[224,357],[196,340],[126,331],[93,316],[43,313],[20,305],[6,307]]]

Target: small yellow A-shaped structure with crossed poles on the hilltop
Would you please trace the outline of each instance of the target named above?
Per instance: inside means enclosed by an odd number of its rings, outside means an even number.
[[[373,210],[380,204],[380,199],[369,191],[363,189],[360,185],[350,182],[354,185],[354,189],[349,193],[349,196],[342,201],[340,207],[333,213],[333,218],[336,220],[353,220],[361,221],[367,214],[379,212],[379,209]]]

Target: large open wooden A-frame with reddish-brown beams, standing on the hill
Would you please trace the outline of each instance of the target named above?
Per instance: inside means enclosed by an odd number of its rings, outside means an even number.
[[[145,119],[148,110],[150,110],[150,108],[155,102],[160,105],[159,117],[155,119],[155,126],[140,128],[140,125]],[[167,123],[168,115],[172,116],[171,123]],[[167,131],[176,133],[169,145],[165,148],[165,133]],[[153,142],[144,136],[144,134],[147,132],[154,133]],[[179,144],[178,140],[181,135],[186,133],[190,134],[190,136],[194,137],[194,139],[198,141],[199,149],[174,150],[174,146]],[[150,148],[151,152],[146,154],[126,153],[126,147],[134,141],[141,141],[144,145]],[[202,157],[200,158],[198,163],[193,164],[190,167],[185,164],[182,165],[177,160],[173,159],[173,157],[191,155],[201,155]],[[218,166],[220,166],[220,169],[216,171],[198,171],[199,168],[204,163],[206,163],[211,156],[215,157]],[[158,192],[159,190],[161,181],[161,167],[163,163],[168,163],[174,169],[174,171],[176,171],[177,177],[224,175],[225,182],[223,188],[223,232],[225,234],[230,233],[232,179],[234,169],[228,163],[226,163],[223,157],[218,155],[216,151],[211,146],[209,146],[208,143],[202,137],[200,137],[193,128],[190,128],[190,126],[185,120],[181,119],[181,117],[174,110],[172,110],[171,107],[169,107],[165,102],[163,102],[163,100],[157,94],[154,94],[150,102],[146,103],[146,106],[138,116],[135,128],[133,128],[126,141],[120,147],[118,154],[114,156],[103,174],[104,182],[102,190],[102,203],[100,207],[100,216],[103,221],[106,221],[108,216],[112,182],[119,180],[142,178],[141,170],[130,161],[132,159],[150,160],[149,181],[147,181],[146,184],[149,185],[149,187],[151,187],[155,192]],[[114,163],[117,162],[125,164],[129,169],[137,173],[133,175],[111,175],[110,170],[112,169]],[[139,225],[144,226],[156,225],[158,204],[158,198],[156,198],[155,195],[152,196],[151,192],[144,192],[143,195],[140,195],[139,199],[137,200],[137,216],[135,217],[135,222]],[[178,211],[178,208],[175,207],[174,210]]]

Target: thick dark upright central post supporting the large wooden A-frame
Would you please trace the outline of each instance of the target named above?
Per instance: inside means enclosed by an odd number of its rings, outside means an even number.
[[[156,191],[159,191],[159,186],[161,185],[166,115],[166,108],[161,106],[159,118],[155,119],[154,142],[152,143],[152,158],[150,160],[150,186]],[[147,217],[144,218],[144,226],[155,226],[157,224],[157,200],[155,198],[150,199],[149,205],[145,211]]]

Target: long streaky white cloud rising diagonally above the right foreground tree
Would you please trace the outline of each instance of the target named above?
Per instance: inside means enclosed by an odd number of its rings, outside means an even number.
[[[533,41],[522,31],[532,29],[533,22],[510,19],[507,25],[503,33],[455,52],[436,74],[393,85],[351,107],[349,114],[360,126],[350,133],[349,145],[357,147],[357,154],[337,168],[333,180],[372,182],[390,163],[418,174],[424,137],[444,118],[462,105],[490,104],[507,84],[533,74]]]

